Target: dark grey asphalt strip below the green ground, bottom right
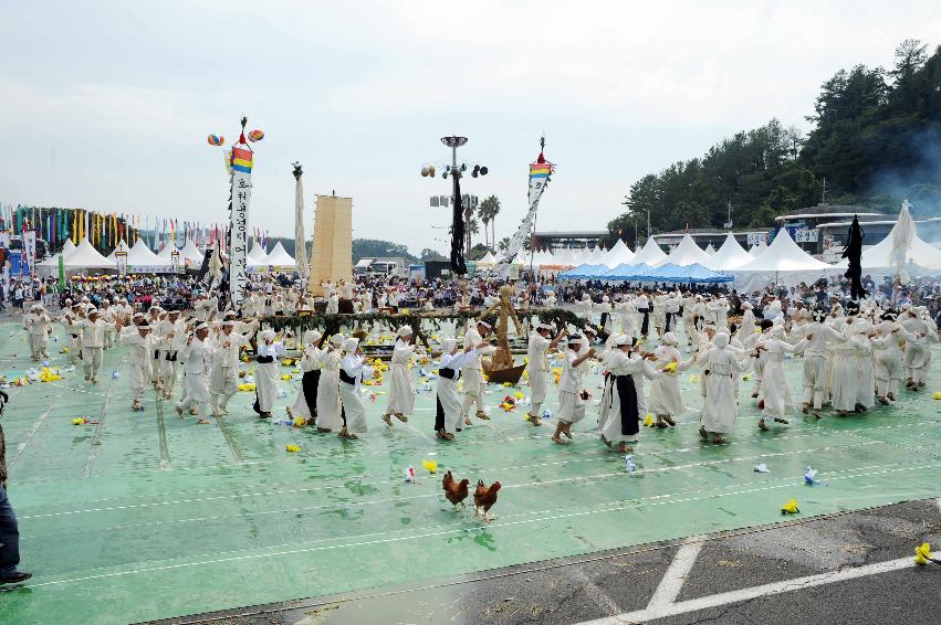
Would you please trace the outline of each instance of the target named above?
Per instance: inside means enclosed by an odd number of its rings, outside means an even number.
[[[694,537],[684,544],[651,543],[422,585],[164,623],[568,625],[604,618],[658,625],[938,623],[941,565],[910,565],[914,547],[924,541],[941,547],[941,500],[798,518]],[[681,550],[684,554],[676,558]],[[676,578],[683,560],[688,566]],[[869,573],[880,568],[891,570]],[[676,578],[672,590],[665,574]],[[860,576],[844,579],[854,575]],[[793,583],[782,590],[781,582]],[[771,586],[749,590],[765,584]],[[684,603],[697,600],[707,605]],[[630,614],[655,605],[666,605],[673,614]]]

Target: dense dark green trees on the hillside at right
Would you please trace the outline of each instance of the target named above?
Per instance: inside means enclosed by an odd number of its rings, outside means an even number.
[[[776,215],[819,203],[916,215],[941,204],[941,46],[906,40],[895,66],[856,65],[820,86],[805,136],[774,118],[736,133],[705,155],[648,173],[630,187],[607,244],[686,227],[766,229]]]

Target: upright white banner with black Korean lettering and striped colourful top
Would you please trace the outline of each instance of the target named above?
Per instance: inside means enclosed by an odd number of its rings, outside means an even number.
[[[238,310],[249,282],[249,203],[252,194],[252,151],[232,147],[232,195],[229,209],[229,297]]]

